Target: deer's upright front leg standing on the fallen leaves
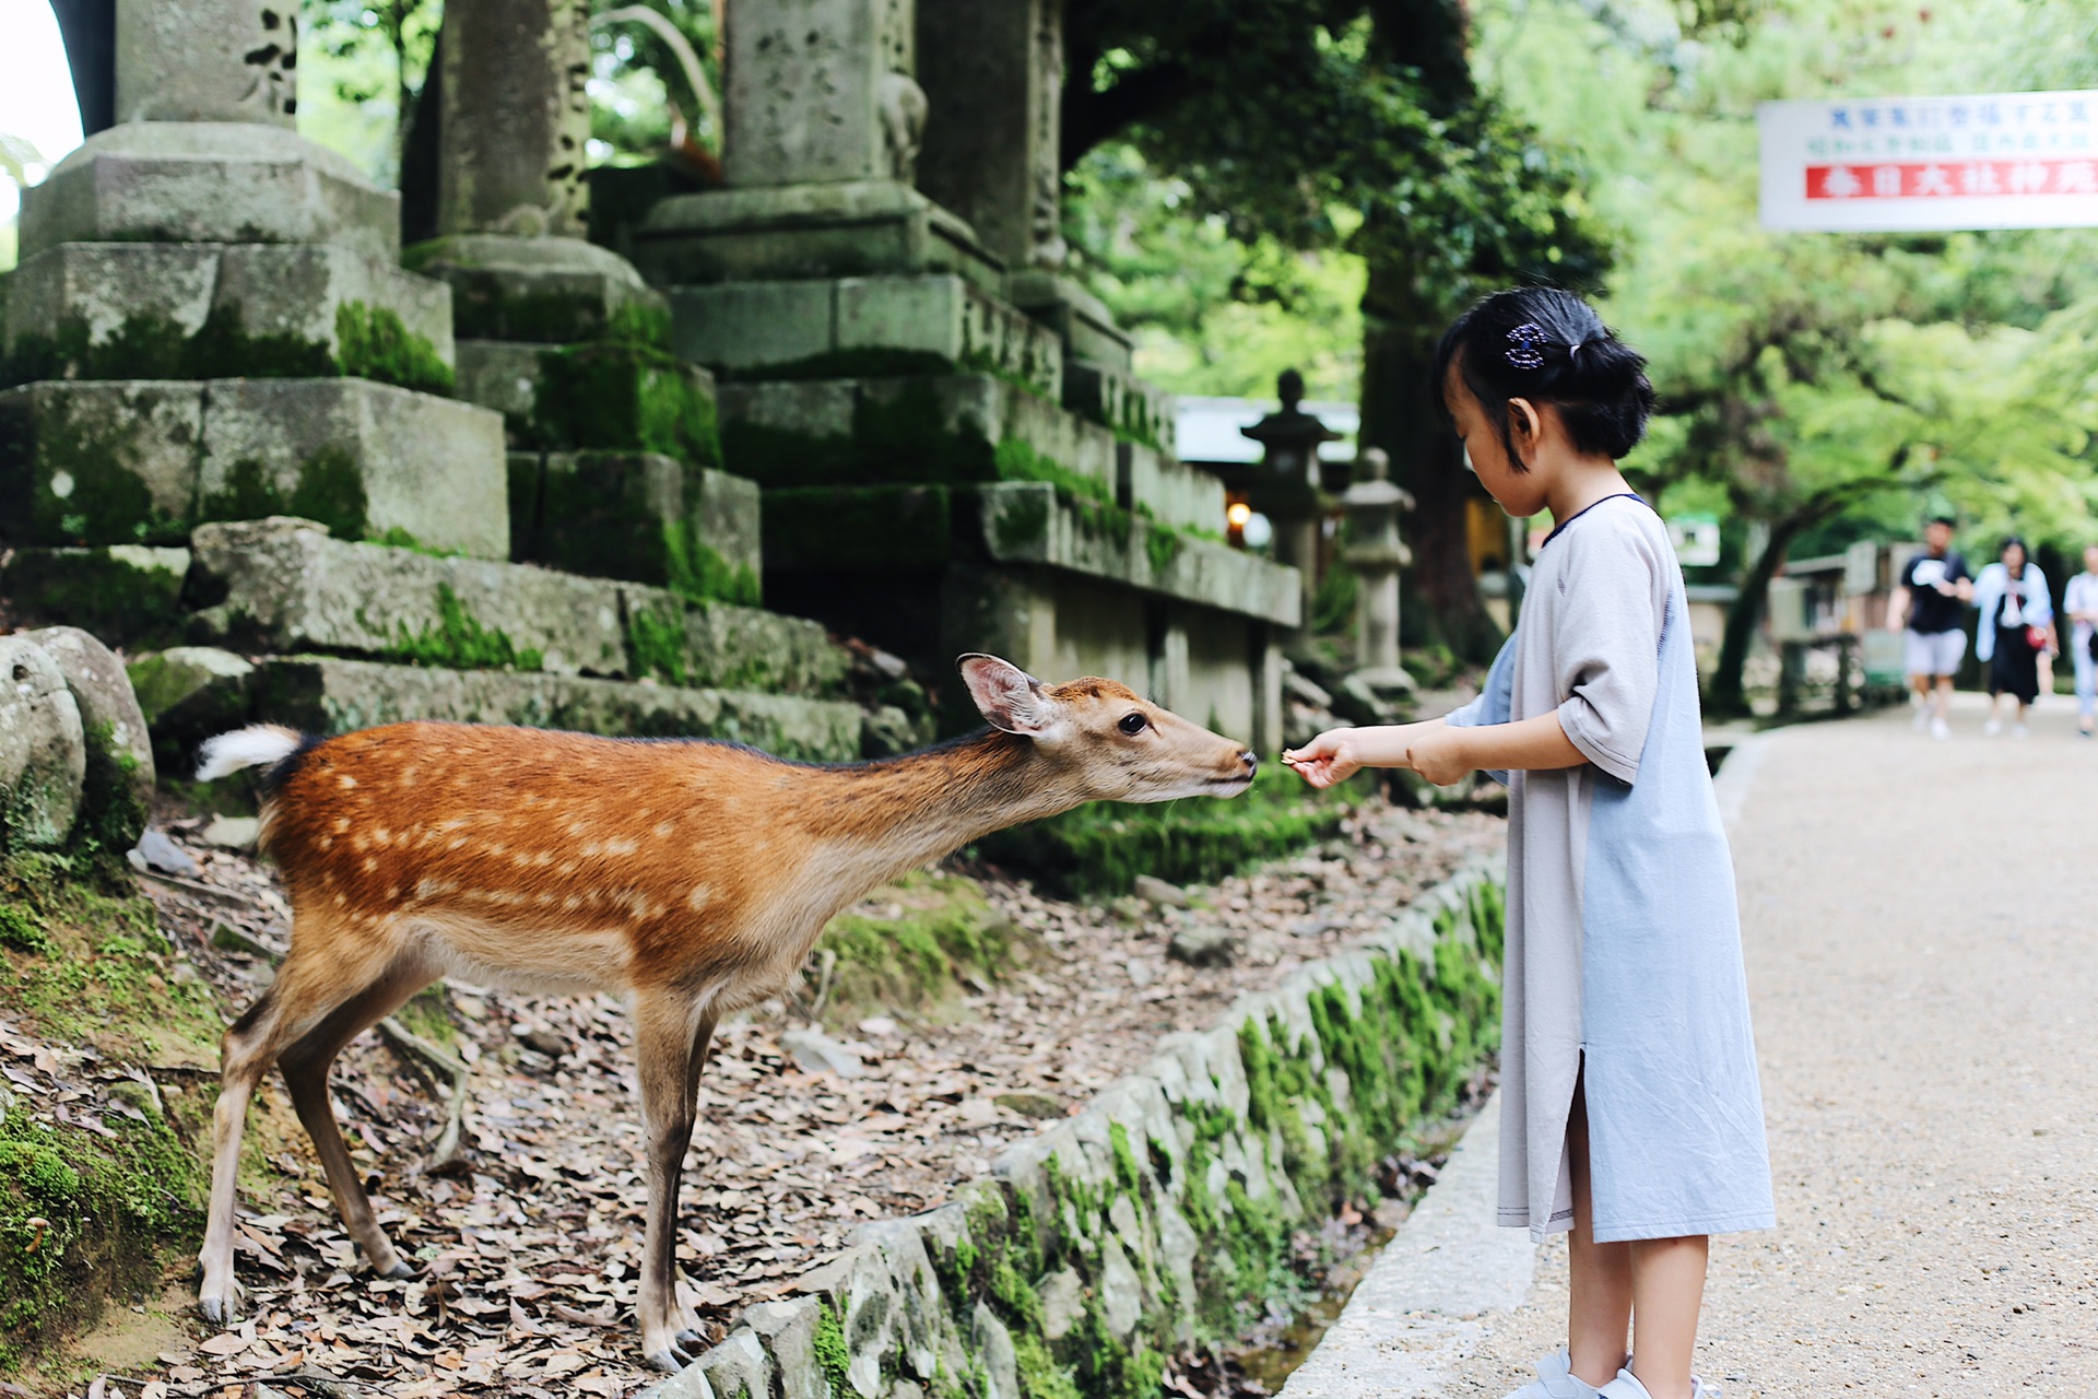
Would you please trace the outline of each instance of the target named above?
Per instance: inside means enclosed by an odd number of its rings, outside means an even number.
[[[678,1305],[678,1185],[684,1154],[692,1145],[697,1066],[711,1034],[713,1017],[703,1017],[688,994],[650,992],[636,998],[642,1149],[648,1154],[648,1233],[642,1240],[636,1311],[642,1321],[642,1353],[650,1365],[669,1374],[690,1365],[701,1342],[697,1317]]]

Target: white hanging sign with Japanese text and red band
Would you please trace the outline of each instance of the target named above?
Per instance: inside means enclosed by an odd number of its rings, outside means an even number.
[[[1762,103],[1762,227],[2098,224],[2098,90]]]

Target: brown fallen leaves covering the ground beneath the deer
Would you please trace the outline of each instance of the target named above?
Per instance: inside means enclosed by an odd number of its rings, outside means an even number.
[[[201,873],[147,887],[168,935],[237,1013],[266,986],[290,910],[266,866],[201,845],[199,828],[168,822]],[[1200,891],[1206,908],[1194,910],[1057,902],[967,870],[1036,954],[965,996],[952,1019],[860,1021],[850,1049],[864,1076],[852,1080],[799,1070],[778,1045],[793,1028],[783,1017],[718,1032],[684,1172],[678,1258],[690,1300],[720,1338],[745,1305],[791,1292],[833,1258],[856,1225],[940,1204],[1041,1131],[1045,1114],[1078,1112],[1141,1068],[1162,1034],[1215,1024],[1240,994],[1374,931],[1500,839],[1490,816],[1370,805],[1343,839]],[[1234,931],[1238,961],[1166,959],[1187,921]],[[367,1034],[331,1080],[378,1219],[420,1273],[380,1282],[363,1269],[294,1128],[269,1156],[271,1187],[241,1200],[245,1319],[224,1332],[197,1323],[191,1351],[162,1355],[149,1376],[109,1376],[107,1395],[172,1399],[250,1382],[323,1393],[334,1382],[394,1399],[613,1399],[657,1378],[634,1330],[644,1183],[625,1011],[611,996],[462,986],[451,1005],[472,1078],[466,1152],[449,1172],[420,1170],[445,1114],[415,1066]],[[67,1070],[65,1051],[17,1053],[8,1032],[0,1049],[0,1074],[25,1091]],[[90,1097],[71,1105],[76,1116],[101,1112]],[[258,1097],[290,1122],[275,1080]]]

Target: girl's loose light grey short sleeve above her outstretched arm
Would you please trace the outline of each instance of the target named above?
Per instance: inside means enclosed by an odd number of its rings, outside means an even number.
[[[1670,575],[1655,539],[1630,520],[1594,520],[1565,543],[1574,550],[1553,636],[1559,724],[1590,763],[1632,782],[1660,690]]]

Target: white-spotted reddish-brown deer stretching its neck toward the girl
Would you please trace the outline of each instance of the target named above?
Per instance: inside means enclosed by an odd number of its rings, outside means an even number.
[[[199,780],[262,770],[260,847],[292,935],[220,1045],[204,1317],[239,1309],[241,1124],[271,1066],[365,1263],[413,1275],[342,1145],[327,1074],[357,1034],[453,975],[625,998],[648,1189],[642,1353],[665,1372],[692,1363],[705,1338],[676,1288],[678,1191],[715,1024],[785,992],[825,923],[904,870],[1085,801],[1234,797],[1259,770],[1246,745],[1114,680],[1043,684],[978,652],[959,667],[986,728],[862,763],[436,722],[210,738]]]

